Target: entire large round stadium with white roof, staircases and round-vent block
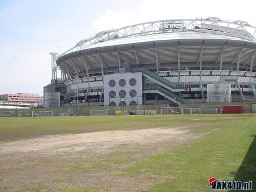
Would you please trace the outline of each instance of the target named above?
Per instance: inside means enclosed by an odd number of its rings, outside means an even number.
[[[209,84],[217,85],[211,93],[223,101],[254,99],[255,30],[243,21],[209,17],[100,32],[58,56],[50,53],[45,105],[211,102]],[[218,84],[231,92],[219,91]]]

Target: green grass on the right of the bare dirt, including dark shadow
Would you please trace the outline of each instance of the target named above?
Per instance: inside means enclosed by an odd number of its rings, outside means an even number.
[[[124,170],[132,176],[165,178],[149,191],[209,191],[206,185],[211,177],[256,183],[255,117],[247,115],[213,123],[210,128],[219,130],[190,142],[189,146],[152,156]]]

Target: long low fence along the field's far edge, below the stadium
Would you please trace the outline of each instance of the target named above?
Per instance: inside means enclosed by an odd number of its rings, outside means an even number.
[[[222,102],[222,103],[183,103],[180,104],[180,107],[182,108],[201,108],[201,113],[205,113],[205,106],[215,107],[218,110],[218,113],[222,112],[222,106],[228,106],[228,105],[242,105],[243,113],[251,113],[252,112],[252,103],[256,103],[255,101],[244,101],[244,102]],[[79,110],[79,115],[82,116],[90,116],[92,110],[103,110],[106,111],[106,109],[125,109],[125,114],[128,114],[128,112],[133,112],[135,114],[141,114],[141,115],[157,115],[161,114],[161,108],[168,108],[170,105],[166,104],[145,104],[145,105],[122,105],[122,106],[79,106],[79,109],[77,106],[68,106],[68,107],[60,107],[60,108],[34,108],[34,109],[1,109],[2,113],[0,114],[0,117],[10,117],[12,116],[18,116],[19,111],[33,111],[33,116],[39,116],[40,111],[48,111],[48,114],[45,113],[45,115],[51,115],[51,116],[59,116],[60,114],[63,114],[63,116],[66,116],[66,114],[69,114],[69,116],[77,115],[77,111]],[[166,113],[169,113],[170,111],[166,111]],[[162,112],[162,114],[165,114],[165,112]]]

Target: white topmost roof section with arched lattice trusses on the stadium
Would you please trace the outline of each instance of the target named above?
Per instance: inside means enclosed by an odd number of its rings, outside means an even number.
[[[208,27],[212,28],[208,28]],[[196,18],[196,19],[169,19],[154,22],[140,23],[119,29],[110,29],[97,33],[95,36],[82,39],[71,49],[60,54],[57,58],[73,52],[82,50],[100,42],[118,38],[142,36],[151,34],[173,33],[173,32],[201,32],[238,37],[250,41],[256,40],[256,27],[250,26],[241,20],[229,21],[218,17]]]

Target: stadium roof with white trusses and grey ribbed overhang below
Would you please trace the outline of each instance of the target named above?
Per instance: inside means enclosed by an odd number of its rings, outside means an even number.
[[[256,53],[255,32],[256,27],[246,22],[228,22],[216,17],[148,22],[103,31],[81,40],[59,55],[56,62],[70,75],[75,71],[108,71],[120,67],[122,62],[154,68],[158,60],[159,67],[164,67],[177,65],[180,47],[181,66],[197,66],[202,53],[206,66],[217,66],[222,54],[227,67],[240,62],[243,68],[249,68]]]

